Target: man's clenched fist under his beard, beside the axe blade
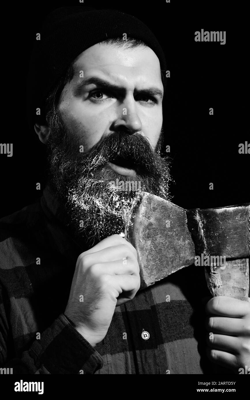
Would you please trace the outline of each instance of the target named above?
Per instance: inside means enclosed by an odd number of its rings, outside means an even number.
[[[65,315],[95,346],[107,334],[115,307],[139,287],[135,248],[119,235],[109,236],[78,257]]]

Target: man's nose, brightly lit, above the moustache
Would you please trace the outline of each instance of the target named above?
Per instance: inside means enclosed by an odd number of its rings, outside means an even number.
[[[142,132],[142,124],[133,95],[119,104],[117,118],[113,122],[111,130],[114,132],[122,130],[129,135]]]

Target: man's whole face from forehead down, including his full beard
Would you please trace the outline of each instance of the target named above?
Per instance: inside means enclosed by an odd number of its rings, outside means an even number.
[[[74,70],[48,117],[50,186],[75,236],[91,244],[115,233],[127,238],[139,192],[124,190],[126,182],[168,196],[168,167],[157,150],[159,60],[150,48],[96,44],[80,54]],[[125,185],[114,186],[117,179]]]

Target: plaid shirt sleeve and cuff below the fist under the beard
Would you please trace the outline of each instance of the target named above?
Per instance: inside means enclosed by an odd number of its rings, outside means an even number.
[[[13,374],[94,374],[103,366],[101,355],[64,314],[20,358],[7,359],[7,336],[6,319],[0,315],[0,366],[13,368]]]

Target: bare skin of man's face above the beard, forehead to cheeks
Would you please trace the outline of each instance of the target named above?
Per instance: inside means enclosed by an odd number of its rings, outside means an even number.
[[[85,151],[120,130],[147,137],[155,149],[162,126],[163,85],[153,50],[95,44],[80,54],[74,69],[58,111],[79,144],[84,141]]]

